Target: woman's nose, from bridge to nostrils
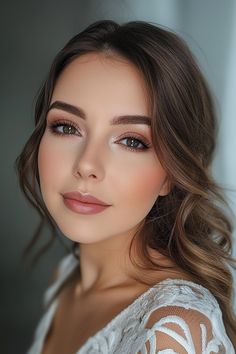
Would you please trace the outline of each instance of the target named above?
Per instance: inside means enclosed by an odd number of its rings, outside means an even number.
[[[73,174],[82,179],[100,181],[104,178],[104,151],[101,142],[90,141],[77,153]]]

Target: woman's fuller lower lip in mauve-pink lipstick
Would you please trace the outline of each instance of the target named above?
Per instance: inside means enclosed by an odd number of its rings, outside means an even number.
[[[109,207],[109,205],[82,203],[75,199],[63,199],[67,208],[79,214],[97,214]]]

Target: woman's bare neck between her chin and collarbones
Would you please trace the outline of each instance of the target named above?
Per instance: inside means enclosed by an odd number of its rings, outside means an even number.
[[[132,282],[129,259],[132,234],[80,244],[80,291],[96,292]]]

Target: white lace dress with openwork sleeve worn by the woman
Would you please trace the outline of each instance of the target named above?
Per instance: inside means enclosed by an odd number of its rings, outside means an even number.
[[[36,328],[27,354],[40,354],[58,299],[54,295],[78,260],[62,259],[58,278],[46,291],[50,306]],[[166,279],[149,288],[89,337],[71,354],[235,354],[213,295],[204,287],[181,279]]]

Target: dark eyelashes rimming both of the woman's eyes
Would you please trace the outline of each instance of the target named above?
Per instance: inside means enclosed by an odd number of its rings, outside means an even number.
[[[79,134],[68,134],[68,133],[61,133],[59,131],[57,131],[56,129],[58,127],[62,127],[62,126],[66,126],[66,127],[73,127],[74,129],[76,129],[79,132],[79,128],[73,123],[73,122],[67,122],[67,121],[55,121],[53,123],[49,124],[49,130],[55,134],[55,135],[60,135],[60,136],[68,136],[68,135],[79,135]],[[132,135],[126,135],[123,136],[121,139],[119,139],[119,141],[121,140],[125,140],[125,139],[133,139],[135,141],[138,141],[139,143],[141,143],[143,145],[143,147],[140,148],[132,148],[132,147],[128,147],[128,146],[124,146],[125,149],[130,150],[130,151],[134,151],[134,152],[139,152],[139,151],[145,151],[148,150],[151,146],[151,144],[144,140],[141,139],[139,136],[136,136],[134,133],[130,133]]]

